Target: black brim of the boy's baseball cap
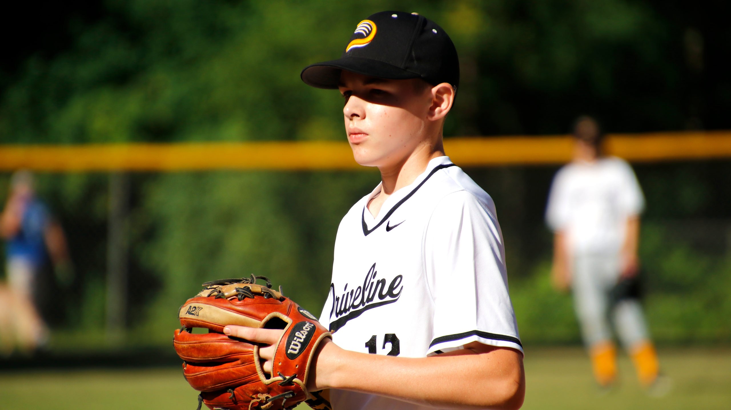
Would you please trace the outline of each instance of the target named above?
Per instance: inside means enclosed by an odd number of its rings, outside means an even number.
[[[370,77],[406,80],[421,77],[415,72],[396,67],[371,58],[344,57],[338,60],[311,64],[302,70],[300,78],[308,85],[317,88],[333,89],[340,84],[342,70],[368,75]]]

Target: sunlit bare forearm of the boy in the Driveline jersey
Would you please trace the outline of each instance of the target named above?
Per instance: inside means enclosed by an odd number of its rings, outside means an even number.
[[[510,349],[406,358],[350,352],[327,343],[323,352],[325,360],[317,361],[318,387],[442,409],[518,409],[523,404],[523,359]]]

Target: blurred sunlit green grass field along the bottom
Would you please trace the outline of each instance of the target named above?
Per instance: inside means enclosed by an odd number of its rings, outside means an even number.
[[[580,349],[528,349],[523,409],[730,409],[731,350],[661,350],[673,389],[651,398],[637,387],[629,361],[621,384],[599,394]],[[0,409],[194,410],[196,393],[178,368],[94,371],[0,370]]]

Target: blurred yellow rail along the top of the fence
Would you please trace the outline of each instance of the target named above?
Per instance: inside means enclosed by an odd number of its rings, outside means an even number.
[[[731,158],[731,131],[611,134],[607,153],[630,162]],[[562,164],[567,135],[452,137],[444,149],[464,167]],[[0,145],[0,170],[47,172],[202,170],[368,170],[344,142]]]

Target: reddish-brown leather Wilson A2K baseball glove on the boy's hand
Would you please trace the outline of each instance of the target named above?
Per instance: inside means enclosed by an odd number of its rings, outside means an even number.
[[[257,279],[266,281],[257,284]],[[322,397],[306,388],[310,362],[330,332],[297,303],[271,289],[268,278],[251,276],[203,284],[178,311],[183,327],[173,345],[183,359],[183,374],[213,409],[292,409],[303,400],[319,405]],[[228,324],[284,329],[276,346],[272,373],[262,371],[259,346],[223,334]],[[192,328],[208,333],[192,333]]]

